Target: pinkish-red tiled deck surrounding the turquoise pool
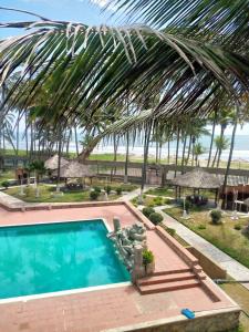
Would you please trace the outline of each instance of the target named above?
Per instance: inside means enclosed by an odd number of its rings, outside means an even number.
[[[157,272],[188,267],[180,255],[165,242],[156,229],[153,229],[153,226],[127,203],[71,208],[64,206],[60,209],[25,212],[7,211],[0,208],[0,225],[104,218],[112,227],[114,216],[122,220],[122,226],[132,225],[136,220],[147,222],[147,227],[151,228],[147,231],[148,247],[155,253]],[[175,321],[185,324],[187,320],[180,314],[183,308],[196,311],[197,318],[238,312],[237,304],[217,286],[209,279],[206,279],[205,283],[219,299],[218,301],[214,301],[201,286],[142,295],[134,286],[126,284],[25,302],[2,303],[0,304],[0,332],[145,331],[143,330],[145,325],[146,331],[156,331],[149,330],[149,326]],[[183,330],[166,328],[162,331]]]

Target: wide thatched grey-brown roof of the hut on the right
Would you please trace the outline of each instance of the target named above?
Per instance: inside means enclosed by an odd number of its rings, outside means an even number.
[[[191,172],[178,175],[172,180],[172,184],[177,187],[194,189],[218,189],[221,186],[221,180],[201,168],[196,168]]]

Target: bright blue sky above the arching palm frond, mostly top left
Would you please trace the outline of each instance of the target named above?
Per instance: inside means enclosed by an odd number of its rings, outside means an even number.
[[[89,25],[116,24],[111,19],[115,8],[103,12],[107,0],[0,0],[1,7],[28,10],[52,20],[82,22]],[[24,13],[0,10],[0,22],[35,20]],[[0,39],[20,33],[15,29],[0,29]],[[210,127],[208,127],[209,129]],[[230,135],[232,127],[226,129]],[[218,134],[218,133],[217,133]],[[249,135],[249,124],[238,127],[237,135]]]

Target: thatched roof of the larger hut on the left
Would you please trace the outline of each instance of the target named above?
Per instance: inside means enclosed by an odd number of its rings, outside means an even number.
[[[56,172],[54,172],[54,175]],[[64,178],[80,178],[80,177],[93,177],[93,173],[87,165],[80,164],[76,160],[69,162],[66,165],[61,167],[60,177]]]

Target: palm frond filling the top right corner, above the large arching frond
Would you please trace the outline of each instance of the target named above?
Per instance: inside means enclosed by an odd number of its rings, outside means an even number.
[[[212,39],[227,44],[248,41],[248,0],[110,0],[129,21],[144,21],[155,28]],[[116,13],[115,11],[115,13]]]

